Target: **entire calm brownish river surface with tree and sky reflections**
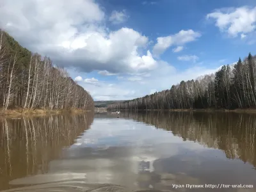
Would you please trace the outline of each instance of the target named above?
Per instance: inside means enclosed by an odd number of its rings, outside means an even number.
[[[256,191],[255,132],[245,113],[2,117],[0,191]]]

